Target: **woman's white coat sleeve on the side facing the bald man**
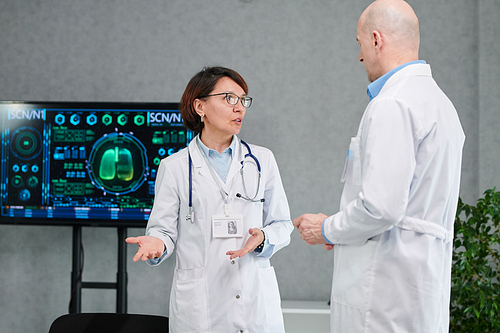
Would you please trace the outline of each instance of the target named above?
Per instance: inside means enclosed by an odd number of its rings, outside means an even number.
[[[269,175],[265,178],[263,211],[263,230],[267,239],[264,249],[258,255],[266,259],[290,244],[290,234],[293,231],[290,208],[281,182],[278,164],[273,153],[269,151],[269,154],[268,163],[265,165]],[[263,172],[265,172],[264,169]]]

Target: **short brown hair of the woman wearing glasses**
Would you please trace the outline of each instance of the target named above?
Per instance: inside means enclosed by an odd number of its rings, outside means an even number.
[[[179,111],[187,129],[196,133],[201,132],[204,125],[201,122],[201,117],[194,110],[193,102],[200,96],[210,95],[217,82],[223,77],[228,77],[236,82],[245,91],[245,94],[248,94],[247,83],[236,71],[219,66],[203,68],[189,81],[179,103]]]

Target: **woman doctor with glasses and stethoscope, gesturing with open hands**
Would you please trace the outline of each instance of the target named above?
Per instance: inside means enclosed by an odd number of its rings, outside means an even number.
[[[158,265],[176,251],[170,332],[284,332],[269,258],[290,242],[293,225],[272,152],[236,135],[252,104],[245,80],[204,68],[180,102],[198,133],[162,160],[146,235],[134,261]]]

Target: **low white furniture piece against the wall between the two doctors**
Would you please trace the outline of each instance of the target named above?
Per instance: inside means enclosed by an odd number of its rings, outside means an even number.
[[[282,301],[286,333],[330,333],[330,306],[326,301]]]

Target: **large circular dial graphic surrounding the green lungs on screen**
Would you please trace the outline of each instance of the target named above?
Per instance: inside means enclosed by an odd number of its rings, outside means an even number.
[[[104,192],[133,192],[148,175],[146,148],[130,134],[106,134],[92,146],[87,169],[92,184]]]

